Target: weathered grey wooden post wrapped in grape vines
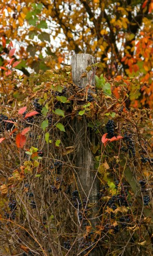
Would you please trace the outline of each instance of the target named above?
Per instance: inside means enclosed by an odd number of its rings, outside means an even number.
[[[77,54],[71,58],[72,66],[72,80],[75,85],[85,88],[88,85],[94,86],[95,84],[95,67],[87,73],[87,76],[81,78],[86,68],[95,63],[95,58],[90,54]],[[81,198],[87,198],[88,204],[92,205],[90,223],[87,225],[92,226],[92,230],[98,225],[99,207],[97,205],[97,193],[99,191],[99,182],[97,179],[96,170],[94,170],[94,157],[90,149],[91,142],[89,140],[86,116],[82,120],[75,118],[73,120],[73,129],[76,134],[77,152],[75,154],[75,166],[77,173],[77,186]],[[94,134],[92,134],[92,140]],[[99,250],[95,249],[91,252],[92,256],[103,255]]]

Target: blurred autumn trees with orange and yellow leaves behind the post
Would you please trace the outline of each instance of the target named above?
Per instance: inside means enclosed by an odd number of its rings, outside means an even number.
[[[137,77],[131,104],[152,106],[152,9],[151,0],[2,2],[1,66],[9,42],[25,75],[60,66],[73,53],[89,53],[108,78]]]

